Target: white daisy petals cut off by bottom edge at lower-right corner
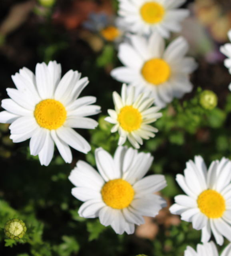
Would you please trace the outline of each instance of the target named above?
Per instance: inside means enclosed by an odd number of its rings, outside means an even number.
[[[219,256],[219,254],[214,242],[209,242],[197,244],[197,252],[191,246],[187,246],[184,256]],[[221,256],[231,256],[231,244],[226,246]]]

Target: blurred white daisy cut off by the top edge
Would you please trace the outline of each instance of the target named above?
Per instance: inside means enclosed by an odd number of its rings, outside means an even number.
[[[180,32],[181,22],[189,11],[177,9],[186,0],[119,0],[118,14],[135,34],[158,32],[169,38],[170,32]]]

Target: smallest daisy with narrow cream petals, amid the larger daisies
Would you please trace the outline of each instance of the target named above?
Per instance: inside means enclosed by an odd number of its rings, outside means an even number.
[[[118,145],[123,145],[129,140],[132,146],[139,148],[139,144],[143,144],[143,140],[153,138],[158,132],[157,128],[149,125],[160,118],[162,113],[157,113],[160,107],[153,106],[154,99],[141,93],[135,97],[135,87],[127,88],[123,84],[121,96],[117,92],[113,92],[113,101],[115,110],[109,109],[105,120],[115,124],[111,132],[119,132]]]

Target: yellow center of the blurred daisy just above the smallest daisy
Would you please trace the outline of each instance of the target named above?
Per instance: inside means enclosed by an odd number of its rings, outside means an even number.
[[[141,74],[147,82],[159,85],[169,79],[171,69],[164,60],[154,58],[144,63]]]

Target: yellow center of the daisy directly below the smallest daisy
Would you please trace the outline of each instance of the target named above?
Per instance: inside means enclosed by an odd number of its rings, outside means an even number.
[[[131,184],[122,179],[108,181],[101,190],[105,204],[114,209],[123,209],[129,206],[134,194]]]

